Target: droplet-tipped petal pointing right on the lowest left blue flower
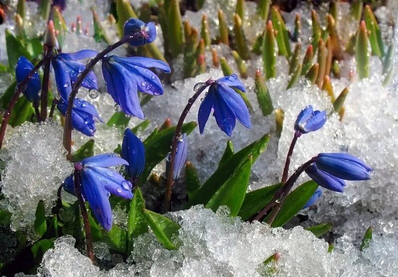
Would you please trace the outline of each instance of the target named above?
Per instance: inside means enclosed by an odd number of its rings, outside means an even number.
[[[111,194],[125,199],[133,198],[133,193],[131,192],[133,185],[116,171],[108,168],[92,167],[90,168],[90,172],[96,174],[96,178]]]

